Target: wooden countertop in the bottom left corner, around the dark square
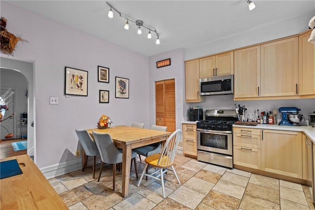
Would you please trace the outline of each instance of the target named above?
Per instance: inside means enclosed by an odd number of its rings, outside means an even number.
[[[23,174],[0,180],[1,210],[68,210],[28,154],[0,161],[12,159],[17,159]]]

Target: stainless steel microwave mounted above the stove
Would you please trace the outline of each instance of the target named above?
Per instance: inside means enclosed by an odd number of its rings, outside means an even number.
[[[233,94],[233,74],[199,79],[200,95]]]

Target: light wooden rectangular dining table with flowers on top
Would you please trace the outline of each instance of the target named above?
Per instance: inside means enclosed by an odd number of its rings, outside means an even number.
[[[115,145],[118,148],[123,149],[123,197],[127,197],[129,191],[131,150],[156,142],[165,142],[171,135],[171,132],[131,127],[126,125],[115,126],[107,129],[95,128],[87,130],[93,139],[93,131],[97,133],[110,134]]]

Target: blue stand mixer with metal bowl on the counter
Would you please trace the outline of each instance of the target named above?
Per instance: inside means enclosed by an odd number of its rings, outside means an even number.
[[[304,121],[303,115],[299,115],[301,109],[296,107],[280,107],[279,112],[282,114],[281,121],[278,125],[299,125]]]

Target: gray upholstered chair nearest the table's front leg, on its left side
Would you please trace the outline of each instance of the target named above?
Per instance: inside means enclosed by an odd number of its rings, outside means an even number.
[[[98,151],[100,153],[100,158],[102,160],[98,175],[98,180],[102,174],[102,167],[104,163],[113,164],[113,190],[115,191],[115,178],[116,178],[116,164],[123,162],[123,153],[122,150],[118,150],[115,146],[112,137],[108,133],[96,133],[93,131],[94,139]],[[136,177],[138,178],[137,164],[136,164],[136,152],[131,152],[131,159],[134,162],[134,169]],[[131,161],[132,165],[132,161]]]

